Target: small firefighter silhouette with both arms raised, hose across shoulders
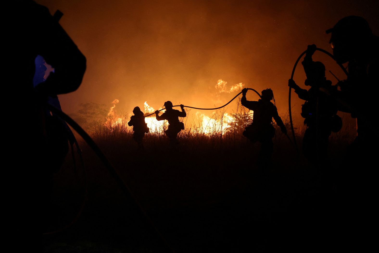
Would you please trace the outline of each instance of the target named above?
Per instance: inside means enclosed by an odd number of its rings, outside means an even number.
[[[170,139],[171,142],[177,142],[176,137],[178,133],[181,130],[184,130],[184,124],[183,122],[179,121],[178,117],[185,117],[187,116],[184,105],[180,105],[180,108],[182,108],[182,112],[179,110],[172,109],[172,103],[171,101],[167,101],[164,103],[164,107],[166,108],[166,112],[164,112],[161,116],[159,116],[158,110],[155,111],[155,116],[157,117],[157,120],[168,120],[168,129],[165,131],[165,134]]]

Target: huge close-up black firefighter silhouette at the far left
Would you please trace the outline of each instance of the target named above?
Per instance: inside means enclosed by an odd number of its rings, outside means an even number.
[[[51,118],[46,113],[47,100],[51,95],[70,93],[80,86],[86,70],[86,58],[60,26],[58,18],[52,16],[45,6],[33,1],[9,3],[13,5],[9,7],[10,16],[13,17],[9,30],[16,32],[8,36],[13,47],[9,50],[12,57],[8,72],[13,82],[8,85],[8,94],[18,101],[13,103],[13,110],[17,113],[12,113],[9,121],[19,122],[22,115],[24,123],[14,124],[8,133],[8,138],[11,138],[8,141],[9,150],[13,154],[5,154],[5,157],[12,161],[13,171],[17,173],[9,177],[10,184],[17,186],[13,187],[12,192],[17,203],[8,206],[22,211],[14,220],[14,226],[24,231],[25,236],[20,235],[19,240],[30,249],[38,247],[34,244],[40,242],[37,236],[34,237],[35,234],[38,233],[40,238],[40,233],[45,230],[42,228],[45,224],[41,221],[49,214],[49,209],[45,207],[50,200],[50,182],[53,171],[61,162],[53,157],[67,150],[67,139],[63,144],[65,146],[55,149],[57,143],[54,137],[59,129],[51,124]],[[35,59],[38,55],[55,71],[34,87]],[[28,240],[33,240],[32,244],[29,245]]]

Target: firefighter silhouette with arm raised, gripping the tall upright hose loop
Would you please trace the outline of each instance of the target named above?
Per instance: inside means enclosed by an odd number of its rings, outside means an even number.
[[[300,88],[294,80],[288,80],[288,86],[294,89],[299,98],[305,100],[301,107],[301,116],[305,118],[307,126],[303,138],[303,153],[307,159],[315,164],[327,158],[329,136],[338,132],[342,127],[342,120],[337,113],[337,103],[319,88],[325,88],[330,93],[337,91],[330,80],[326,80],[325,66],[319,61],[313,61],[312,55],[316,45],[308,46],[302,65],[307,79],[305,85],[311,86],[309,90]]]

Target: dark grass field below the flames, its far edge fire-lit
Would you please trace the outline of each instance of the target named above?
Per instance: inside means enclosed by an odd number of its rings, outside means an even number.
[[[321,230],[330,232],[332,168],[354,139],[348,125],[330,137],[330,163],[322,170],[277,130],[273,164],[262,172],[255,166],[259,143],[247,141],[241,125],[206,132],[196,121],[187,122],[178,146],[158,131],[146,135],[141,151],[130,127],[112,127],[118,118],[92,129],[92,137],[175,252],[307,252],[315,248]],[[127,120],[125,115],[122,123]],[[297,133],[301,150],[301,129]],[[85,208],[69,229],[44,236],[44,251],[169,252],[94,152],[83,141],[80,146],[86,175],[78,155],[76,170],[67,155],[54,176],[47,229],[69,223],[87,189]]]

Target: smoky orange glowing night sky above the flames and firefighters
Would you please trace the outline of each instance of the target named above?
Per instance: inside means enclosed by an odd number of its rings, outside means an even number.
[[[127,111],[143,108],[144,101],[154,108],[167,100],[219,106],[237,93],[219,93],[219,79],[258,91],[272,88],[284,113],[293,64],[308,44],[331,52],[325,30],[348,15],[365,17],[376,35],[379,30],[378,1],[36,2],[52,14],[64,13],[60,24],[87,58],[80,88],[59,96],[68,113],[83,102],[111,107],[114,99]],[[324,62],[334,84],[328,70],[344,79],[325,55],[316,52],[314,59]],[[304,79],[300,64],[294,80],[304,86]],[[299,114],[304,101],[294,95]],[[247,99],[257,96],[251,92]]]

